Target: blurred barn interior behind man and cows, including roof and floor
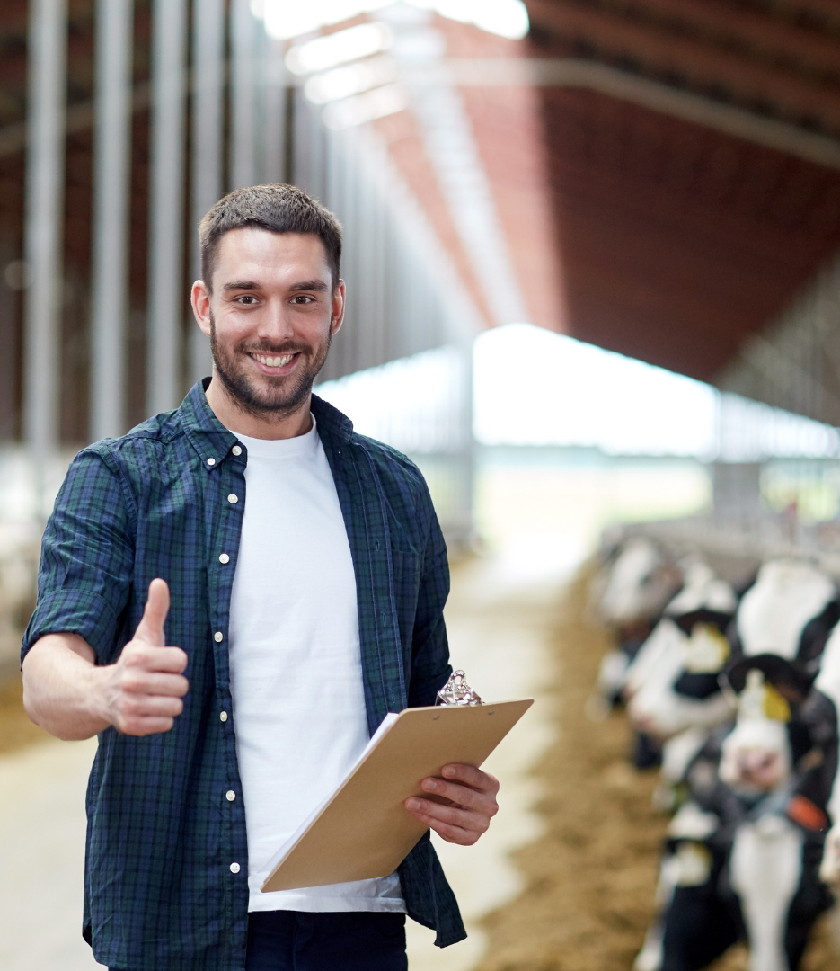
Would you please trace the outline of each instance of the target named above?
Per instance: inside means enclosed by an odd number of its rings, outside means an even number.
[[[489,763],[509,794],[488,840],[440,849],[468,940],[437,952],[415,926],[409,966],[645,971],[668,814],[622,706],[593,720],[618,635],[592,591],[638,538],[739,590],[780,556],[840,583],[840,7],[0,6],[10,971],[97,966],[95,743],[50,741],[20,701],[44,523],[77,452],[210,373],[197,224],[279,182],[344,227],[347,321],[315,392],[426,476],[453,661],[537,699]],[[837,966],[837,921],[802,971]],[[749,960],[742,940],[709,966]]]

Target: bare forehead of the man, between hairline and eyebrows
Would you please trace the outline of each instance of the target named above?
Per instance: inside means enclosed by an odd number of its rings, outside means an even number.
[[[246,226],[231,229],[219,240],[214,285],[231,280],[291,283],[300,275],[329,283],[327,251],[315,233],[273,233]]]

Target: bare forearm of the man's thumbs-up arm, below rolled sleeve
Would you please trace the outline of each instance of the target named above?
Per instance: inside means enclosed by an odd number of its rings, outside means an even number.
[[[36,724],[65,741],[91,738],[110,721],[102,714],[95,654],[78,634],[48,634],[23,661],[23,707]]]

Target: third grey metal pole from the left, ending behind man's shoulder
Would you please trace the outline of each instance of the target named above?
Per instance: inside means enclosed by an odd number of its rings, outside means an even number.
[[[183,311],[186,0],[152,6],[152,106],[146,407],[178,404]]]

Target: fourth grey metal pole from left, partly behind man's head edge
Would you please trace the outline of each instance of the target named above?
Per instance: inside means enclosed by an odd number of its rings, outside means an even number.
[[[193,0],[192,273],[201,277],[198,224],[223,191],[224,0]],[[210,342],[193,326],[189,339],[190,380],[210,374]]]

